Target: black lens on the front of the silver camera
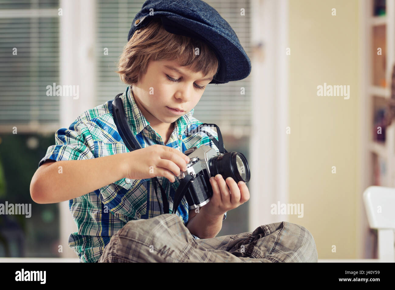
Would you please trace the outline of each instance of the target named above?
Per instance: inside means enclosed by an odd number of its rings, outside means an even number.
[[[211,176],[221,174],[224,179],[231,177],[236,182],[250,180],[250,167],[243,153],[227,152],[209,160],[209,170]]]

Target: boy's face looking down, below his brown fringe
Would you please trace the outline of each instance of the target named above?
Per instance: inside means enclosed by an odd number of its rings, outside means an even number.
[[[132,92],[148,122],[160,126],[175,122],[193,109],[212,79],[213,75],[193,73],[176,61],[151,61],[147,73],[133,85]]]

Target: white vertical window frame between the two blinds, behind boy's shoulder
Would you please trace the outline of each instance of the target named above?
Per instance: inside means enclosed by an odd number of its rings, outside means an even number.
[[[62,16],[59,21],[60,82],[79,85],[79,98],[61,97],[60,126],[68,128],[85,110],[94,107],[96,95],[96,60],[94,54],[96,37],[96,1],[60,0]],[[67,186],[67,185],[65,185]],[[70,214],[69,201],[59,203],[60,245],[62,258],[75,258],[68,239],[77,232]]]

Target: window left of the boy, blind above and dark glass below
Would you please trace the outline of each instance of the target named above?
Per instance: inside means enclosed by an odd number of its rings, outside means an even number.
[[[58,30],[56,0],[0,4],[0,203],[31,206],[30,217],[0,215],[2,257],[59,256],[58,204],[34,203],[29,189],[59,128],[59,98],[46,95],[59,82]]]

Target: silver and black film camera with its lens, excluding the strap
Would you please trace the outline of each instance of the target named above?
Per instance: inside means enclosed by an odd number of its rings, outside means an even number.
[[[236,182],[250,179],[250,169],[246,158],[239,152],[217,153],[207,145],[192,147],[184,152],[188,155],[190,162],[187,169],[181,172],[179,179],[192,176],[193,180],[185,193],[189,210],[204,206],[213,196],[210,178],[221,174],[224,179],[229,176]]]

